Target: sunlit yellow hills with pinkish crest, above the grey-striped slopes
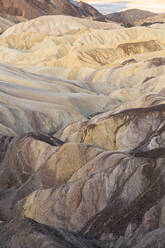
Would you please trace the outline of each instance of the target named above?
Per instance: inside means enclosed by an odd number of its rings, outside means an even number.
[[[41,17],[8,29],[0,38],[0,61],[26,69],[74,67],[79,74],[80,67],[109,68],[130,58],[142,61],[164,54],[163,29],[121,29],[113,23],[58,18]]]

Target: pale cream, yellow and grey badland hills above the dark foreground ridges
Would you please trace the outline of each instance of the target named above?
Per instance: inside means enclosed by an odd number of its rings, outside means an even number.
[[[0,37],[0,62],[32,73],[0,66],[2,127],[5,133],[37,128],[55,133],[91,114],[151,106],[150,95],[164,89],[164,66],[149,61],[163,56],[163,29],[120,28],[67,16],[15,25]],[[163,97],[155,95],[156,102],[163,103]],[[107,126],[97,125],[107,132]],[[89,131],[84,142],[118,149],[113,135],[105,141],[97,132]]]

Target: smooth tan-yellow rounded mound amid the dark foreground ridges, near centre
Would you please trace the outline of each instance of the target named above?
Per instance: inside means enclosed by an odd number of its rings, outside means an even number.
[[[43,175],[49,175],[52,186],[67,183],[74,173],[102,151],[86,144],[64,144],[46,161]]]

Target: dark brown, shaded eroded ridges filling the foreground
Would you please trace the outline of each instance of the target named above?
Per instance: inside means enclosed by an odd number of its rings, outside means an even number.
[[[118,119],[125,120],[123,125],[132,133],[139,133],[139,123],[145,123],[145,137],[125,152],[100,149],[94,155],[96,146],[81,148],[76,152],[77,166],[87,154],[90,160],[86,157],[65,184],[57,184],[57,179],[52,184],[51,176],[62,179],[64,171],[57,172],[62,157],[73,165],[70,159],[75,155],[70,157],[71,150],[66,149],[72,143],[32,133],[2,137],[0,247],[163,248],[164,113],[160,105],[107,117],[115,118],[118,130]]]

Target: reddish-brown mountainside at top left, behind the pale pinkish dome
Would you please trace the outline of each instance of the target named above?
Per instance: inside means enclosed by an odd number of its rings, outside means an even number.
[[[1,0],[0,12],[32,19],[42,15],[64,14],[77,17],[99,15],[88,4],[75,4],[69,0]],[[101,15],[101,14],[100,14]]]

